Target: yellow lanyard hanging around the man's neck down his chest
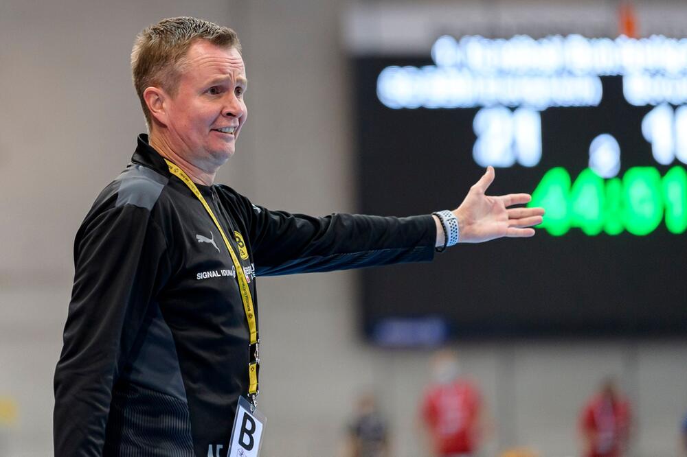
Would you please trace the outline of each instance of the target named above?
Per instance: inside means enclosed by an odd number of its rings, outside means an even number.
[[[198,190],[198,187],[196,187],[195,183],[191,180],[191,178],[189,178],[188,175],[185,174],[183,169],[177,167],[177,165],[174,165],[174,163],[168,161],[167,159],[165,159],[165,161],[167,162],[167,166],[170,169],[170,173],[172,173],[174,176],[177,176],[177,178],[181,179],[185,183],[185,185],[187,185],[188,188],[191,189],[194,196],[196,196],[198,200],[201,200],[203,207],[205,207],[205,211],[207,211],[207,213],[210,214],[212,222],[214,222],[214,224],[217,226],[219,233],[222,235],[222,239],[224,239],[224,244],[227,245],[229,255],[232,257],[232,262],[234,262],[234,268],[236,268],[236,279],[238,280],[238,288],[241,291],[241,299],[243,300],[243,309],[246,312],[248,329],[251,333],[251,347],[255,346],[256,360],[255,362],[249,362],[248,364],[248,377],[250,381],[248,393],[251,396],[251,401],[255,404],[256,396],[258,393],[258,364],[260,363],[260,359],[258,358],[258,325],[256,323],[256,316],[253,307],[253,297],[251,296],[251,290],[248,287],[246,274],[243,271],[243,267],[239,263],[238,258],[236,257],[236,253],[234,253],[234,248],[232,248],[232,245],[229,244],[229,239],[227,239],[227,235],[224,234],[222,226],[219,224],[217,218],[212,212],[212,209],[210,209],[210,206],[208,206],[207,202],[205,201],[205,198],[203,198],[203,194],[201,194],[201,191]],[[249,351],[251,351],[251,347],[249,347]]]

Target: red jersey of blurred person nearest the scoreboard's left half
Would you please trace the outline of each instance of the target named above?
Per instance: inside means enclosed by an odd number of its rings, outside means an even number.
[[[465,381],[435,384],[427,389],[422,415],[437,454],[447,456],[475,451],[480,403],[477,389]]]

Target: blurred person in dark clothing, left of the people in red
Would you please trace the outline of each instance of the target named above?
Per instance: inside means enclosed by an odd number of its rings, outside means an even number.
[[[356,412],[348,425],[346,457],[391,457],[389,427],[372,392],[357,401]]]

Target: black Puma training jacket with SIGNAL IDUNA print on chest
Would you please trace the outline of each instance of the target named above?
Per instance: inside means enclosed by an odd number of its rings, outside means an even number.
[[[55,373],[55,455],[207,456],[227,449],[248,390],[249,332],[216,226],[138,139],[132,163],[76,235],[74,289]],[[324,218],[270,211],[224,185],[198,186],[256,276],[433,257],[429,215]],[[245,253],[245,251],[244,251]],[[257,307],[256,307],[257,314]]]

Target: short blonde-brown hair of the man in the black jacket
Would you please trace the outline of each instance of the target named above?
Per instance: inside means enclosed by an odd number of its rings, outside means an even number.
[[[234,30],[194,17],[163,19],[136,36],[131,51],[131,73],[148,130],[153,122],[143,97],[144,91],[150,86],[157,86],[172,96],[176,95],[183,73],[183,59],[196,40],[207,40],[219,47],[241,50]]]

